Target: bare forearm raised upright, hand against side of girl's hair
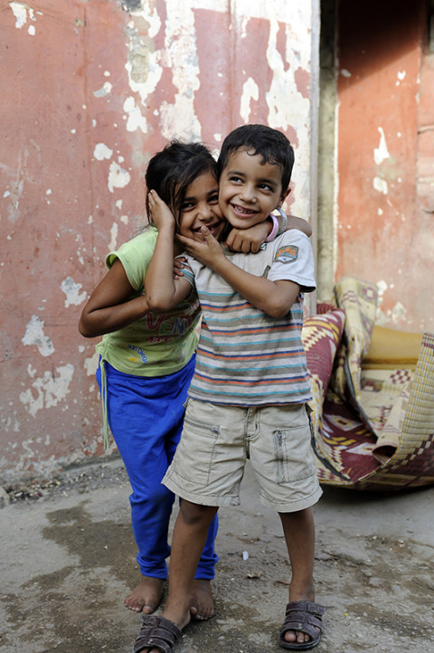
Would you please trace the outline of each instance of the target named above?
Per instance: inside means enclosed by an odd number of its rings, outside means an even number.
[[[175,217],[155,191],[149,193],[149,208],[158,228],[156,249],[146,270],[145,292],[149,308],[165,312],[186,299],[192,291],[183,277],[174,279]]]

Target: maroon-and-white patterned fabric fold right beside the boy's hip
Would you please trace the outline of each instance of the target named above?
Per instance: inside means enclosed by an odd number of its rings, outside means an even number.
[[[325,393],[332,375],[336,349],[344,332],[344,321],[344,310],[335,308],[322,315],[307,317],[301,332],[313,397],[310,406],[314,434],[321,429]]]

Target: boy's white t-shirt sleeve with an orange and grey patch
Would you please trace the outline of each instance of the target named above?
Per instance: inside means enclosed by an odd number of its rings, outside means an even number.
[[[314,253],[307,235],[296,229],[282,233],[273,242],[270,281],[293,281],[302,292],[316,289]]]

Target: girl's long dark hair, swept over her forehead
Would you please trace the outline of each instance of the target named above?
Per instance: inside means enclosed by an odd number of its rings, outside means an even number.
[[[151,158],[146,169],[146,187],[155,190],[170,207],[179,225],[179,216],[187,188],[194,179],[211,173],[217,180],[217,164],[203,143],[182,143],[172,140],[161,152]],[[146,212],[152,216],[146,194]]]

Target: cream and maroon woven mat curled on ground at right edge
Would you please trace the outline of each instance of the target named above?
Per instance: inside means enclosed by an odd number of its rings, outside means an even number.
[[[375,286],[344,277],[335,302],[345,324],[314,431],[320,483],[374,491],[433,485],[434,334],[423,335],[415,370],[361,369],[375,330]]]

